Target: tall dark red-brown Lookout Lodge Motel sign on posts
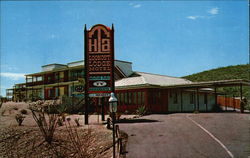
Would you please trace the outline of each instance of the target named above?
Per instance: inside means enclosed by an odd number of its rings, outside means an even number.
[[[89,97],[108,97],[114,92],[114,29],[85,25],[85,124],[88,124]]]

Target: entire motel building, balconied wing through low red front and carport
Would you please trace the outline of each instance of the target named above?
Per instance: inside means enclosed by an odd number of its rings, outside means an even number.
[[[25,83],[15,84],[6,90],[10,100],[36,101],[66,97],[73,105],[84,98],[84,61],[44,65],[41,72],[25,76]],[[134,112],[139,106],[145,106],[152,113],[208,112],[216,104],[239,108],[240,99],[224,97],[218,89],[237,86],[238,97],[242,99],[242,87],[250,85],[249,81],[239,79],[191,82],[179,77],[137,72],[132,70],[131,62],[121,60],[115,60],[114,78],[118,112]],[[90,99],[90,106],[95,110],[100,99]],[[108,111],[108,97],[103,100],[105,111]]]

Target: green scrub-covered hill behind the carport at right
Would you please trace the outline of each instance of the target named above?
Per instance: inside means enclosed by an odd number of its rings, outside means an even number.
[[[196,74],[184,76],[182,78],[194,82],[201,81],[216,81],[216,80],[230,80],[230,79],[246,79],[250,80],[250,64],[233,65],[227,67],[220,67],[211,69]],[[229,96],[239,96],[239,87],[225,87],[220,88],[219,91],[226,92]],[[243,96],[250,99],[250,87],[243,87]]]

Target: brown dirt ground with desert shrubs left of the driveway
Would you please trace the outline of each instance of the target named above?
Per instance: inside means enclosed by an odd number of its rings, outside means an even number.
[[[18,126],[15,116],[23,109],[27,114],[22,125]],[[49,144],[44,141],[28,103],[4,103],[0,109],[0,157],[112,157],[112,131],[107,130],[101,121],[98,123],[97,116],[89,117],[90,125],[84,125],[83,115],[67,115],[66,118],[71,118],[71,121],[57,126]],[[76,126],[75,118],[79,118],[80,127]],[[82,155],[79,155],[79,150]]]

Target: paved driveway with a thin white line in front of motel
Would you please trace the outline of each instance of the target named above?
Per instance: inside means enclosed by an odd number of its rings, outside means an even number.
[[[248,158],[250,115],[239,113],[148,115],[120,123],[127,158]]]

